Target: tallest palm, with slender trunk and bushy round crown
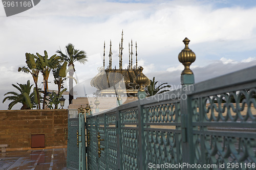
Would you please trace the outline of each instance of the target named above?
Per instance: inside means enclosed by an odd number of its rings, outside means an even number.
[[[68,62],[68,71],[69,71],[69,104],[71,104],[72,100],[74,99],[74,90],[73,90],[73,75],[75,72],[75,65],[76,61],[80,63],[85,63],[87,61],[86,52],[79,51],[74,48],[74,45],[69,43],[65,47],[66,55],[63,54],[60,50],[57,50],[56,53],[59,54],[63,61]]]

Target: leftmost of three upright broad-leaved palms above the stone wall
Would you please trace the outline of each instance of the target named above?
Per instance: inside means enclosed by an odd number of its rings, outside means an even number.
[[[34,54],[26,53],[26,63],[28,67],[18,67],[18,71],[23,71],[26,73],[30,73],[33,77],[34,83],[35,83],[35,103],[36,103],[36,108],[40,109],[40,96],[39,96],[39,90],[37,86],[38,82],[38,75],[39,75],[39,69],[37,68],[35,58],[36,56]]]

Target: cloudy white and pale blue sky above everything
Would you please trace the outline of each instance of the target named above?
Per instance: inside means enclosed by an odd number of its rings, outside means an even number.
[[[25,53],[47,50],[52,56],[68,43],[87,52],[88,62],[75,64],[75,98],[89,95],[88,84],[103,65],[104,41],[108,56],[112,40],[113,65],[118,65],[122,30],[124,67],[133,39],[144,74],[161,83],[180,83],[183,66],[178,54],[185,37],[197,56],[191,65],[196,82],[256,65],[255,16],[254,0],[43,0],[10,17],[0,5],[0,109],[8,107],[9,102],[2,101],[6,92],[15,90],[11,84],[33,82],[30,75],[17,71],[26,65]],[[49,88],[57,89],[52,76],[50,81]]]

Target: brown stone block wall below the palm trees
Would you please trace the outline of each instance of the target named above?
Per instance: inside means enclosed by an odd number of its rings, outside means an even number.
[[[45,146],[67,145],[68,110],[0,110],[0,144],[30,148],[31,135],[45,134]]]

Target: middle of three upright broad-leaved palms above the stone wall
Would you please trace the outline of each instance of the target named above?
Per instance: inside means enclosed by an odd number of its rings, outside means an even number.
[[[38,69],[40,70],[42,76],[44,77],[44,102],[42,103],[42,108],[45,109],[46,104],[46,96],[48,91],[48,78],[50,75],[50,72],[52,69],[56,68],[57,65],[60,62],[60,57],[53,55],[48,59],[47,51],[45,51],[45,56],[41,56],[40,54],[36,53],[36,65],[38,66]]]

